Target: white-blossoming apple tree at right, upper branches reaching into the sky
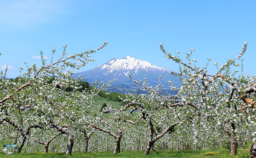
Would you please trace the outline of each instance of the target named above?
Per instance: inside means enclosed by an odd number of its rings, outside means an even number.
[[[247,43],[244,42],[241,53],[235,59],[228,60],[221,67],[215,63],[218,71],[214,75],[207,73],[210,59],[205,67],[196,66],[197,60],[191,59],[193,48],[187,53],[186,61],[183,62],[178,56],[179,52],[175,52],[177,56],[172,56],[161,43],[159,45],[167,59],[179,64],[179,73],[172,74],[180,77],[182,86],[177,89],[172,87],[170,82],[170,87],[177,91],[175,97],[181,98],[181,102],[178,103],[181,107],[179,111],[183,111],[183,115],[188,114],[189,117],[185,120],[191,123],[195,136],[205,130],[223,131],[229,136],[231,155],[236,155],[238,146],[236,133],[242,132],[245,124],[255,125],[255,120],[251,120],[256,107],[255,93],[253,93],[256,92],[255,76],[245,77],[238,75],[237,70],[232,70],[232,66],[240,66],[237,61],[244,55]],[[184,105],[193,108],[189,109]],[[195,137],[195,143],[197,140],[198,138]]]

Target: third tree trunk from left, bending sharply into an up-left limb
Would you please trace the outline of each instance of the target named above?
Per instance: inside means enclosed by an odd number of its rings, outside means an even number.
[[[65,153],[71,155],[73,145],[74,145],[74,135],[66,127],[62,128],[61,126],[53,124],[53,123],[52,123],[52,126],[54,128],[56,128],[59,132],[67,134],[67,137],[68,137],[68,139],[67,139],[67,150],[66,150]]]

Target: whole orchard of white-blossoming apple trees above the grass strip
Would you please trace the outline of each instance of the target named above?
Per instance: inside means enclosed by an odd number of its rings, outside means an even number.
[[[41,52],[42,67],[20,68],[15,80],[0,79],[0,137],[1,144],[15,144],[8,152],[87,152],[123,150],[205,150],[222,146],[236,155],[237,147],[250,146],[256,140],[255,76],[243,75],[242,57],[247,43],[235,59],[216,66],[215,74],[208,74],[207,66],[196,66],[194,49],[186,56],[167,53],[170,62],[179,66],[181,87],[163,83],[177,94],[160,95],[159,84],[152,87],[146,78],[131,80],[139,90],[119,96],[124,106],[95,104],[96,96],[109,83],[95,81],[86,87],[81,76],[73,78],[97,50],[66,56],[66,45],[61,57],[53,57],[46,64]],[[184,60],[183,60],[184,58]],[[241,69],[241,71],[233,69]],[[168,84],[168,85],[166,85]],[[106,93],[106,95],[109,95]],[[180,99],[180,101],[176,101]],[[7,151],[6,151],[7,152]]]

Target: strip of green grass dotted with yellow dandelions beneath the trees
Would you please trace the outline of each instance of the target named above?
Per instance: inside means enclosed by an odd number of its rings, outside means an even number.
[[[7,157],[4,153],[0,153],[0,158]],[[72,153],[65,155],[64,153],[16,153],[12,158],[248,158],[250,152],[248,150],[238,150],[236,156],[230,156],[229,150],[200,150],[200,151],[153,151],[149,155],[144,155],[143,151],[124,151],[119,154],[113,152],[88,152],[88,153]]]

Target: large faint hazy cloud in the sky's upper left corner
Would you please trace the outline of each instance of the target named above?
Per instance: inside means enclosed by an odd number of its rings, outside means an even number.
[[[1,1],[1,23],[5,26],[29,28],[51,22],[64,12],[59,0],[6,0]]]

